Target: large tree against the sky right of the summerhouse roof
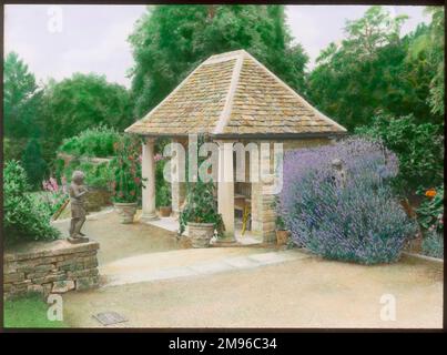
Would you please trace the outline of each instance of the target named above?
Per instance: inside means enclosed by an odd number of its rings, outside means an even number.
[[[346,39],[322,51],[309,75],[311,101],[349,130],[368,124],[378,112],[441,122],[427,100],[434,71],[424,61],[408,60],[409,47],[427,30],[421,26],[402,38],[405,19],[372,7],[362,19],[347,21]]]

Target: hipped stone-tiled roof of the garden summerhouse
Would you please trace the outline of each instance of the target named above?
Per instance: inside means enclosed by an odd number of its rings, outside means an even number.
[[[210,57],[126,132],[224,136],[312,135],[346,130],[240,50]]]

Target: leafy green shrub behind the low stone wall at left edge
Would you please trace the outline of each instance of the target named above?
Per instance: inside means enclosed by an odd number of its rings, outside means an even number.
[[[7,243],[55,240],[60,233],[50,225],[48,209],[30,194],[23,168],[17,161],[4,165],[3,224]]]

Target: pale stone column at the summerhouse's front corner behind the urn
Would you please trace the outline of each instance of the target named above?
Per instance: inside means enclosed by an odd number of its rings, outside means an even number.
[[[217,141],[216,143],[219,144],[217,205],[225,225],[224,242],[235,242],[233,142]]]

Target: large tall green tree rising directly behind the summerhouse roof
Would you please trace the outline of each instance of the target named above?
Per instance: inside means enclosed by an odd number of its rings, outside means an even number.
[[[304,90],[307,55],[292,43],[282,6],[154,6],[129,41],[134,114],[141,118],[212,54],[245,49]]]

